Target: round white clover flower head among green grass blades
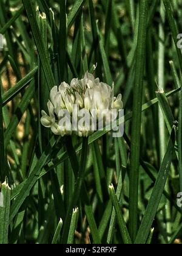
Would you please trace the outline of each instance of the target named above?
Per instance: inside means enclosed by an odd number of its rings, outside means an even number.
[[[88,137],[94,132],[93,116],[96,123],[104,120],[103,123],[106,124],[110,120],[112,110],[116,110],[116,118],[118,111],[123,108],[121,94],[116,98],[113,93],[113,85],[110,87],[98,78],[95,79],[93,74],[86,72],[83,79],[74,78],[70,85],[62,82],[59,87],[52,88],[47,103],[49,115],[42,110],[41,123],[50,128],[55,135],[76,134],[79,137]],[[84,114],[86,119],[83,120],[80,113]]]

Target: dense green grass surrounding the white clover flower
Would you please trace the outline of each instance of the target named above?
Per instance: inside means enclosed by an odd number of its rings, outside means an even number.
[[[0,2],[1,244],[181,243],[181,7]],[[123,95],[124,136],[56,137],[40,123],[51,88],[96,63]]]

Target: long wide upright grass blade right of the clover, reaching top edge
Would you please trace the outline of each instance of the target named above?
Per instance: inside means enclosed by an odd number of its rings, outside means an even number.
[[[143,99],[144,59],[147,32],[148,1],[140,0],[140,20],[138,26],[138,43],[136,48],[135,87],[133,89],[132,144],[130,155],[129,188],[129,230],[132,241],[138,229],[138,168],[140,158],[141,109]]]

